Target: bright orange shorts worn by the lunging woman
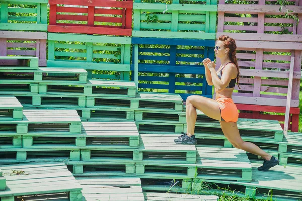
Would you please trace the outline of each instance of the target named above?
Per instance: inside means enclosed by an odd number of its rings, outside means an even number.
[[[219,97],[216,101],[221,111],[221,121],[237,122],[239,113],[232,98]]]

